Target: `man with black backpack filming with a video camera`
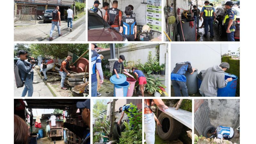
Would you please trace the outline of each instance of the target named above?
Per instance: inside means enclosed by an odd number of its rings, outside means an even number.
[[[28,92],[28,97],[32,97],[33,95],[33,81],[31,79],[31,74],[30,71],[33,67],[33,65],[35,64],[35,60],[33,57],[31,57],[32,60],[30,60],[30,62],[25,61],[28,58],[28,52],[24,51],[24,50],[20,50],[18,52],[18,55],[20,55],[20,60],[17,61],[16,65],[19,68],[20,71],[20,75],[21,75],[21,80],[25,83],[25,88],[21,94],[22,97],[25,97],[25,95],[27,95]]]

